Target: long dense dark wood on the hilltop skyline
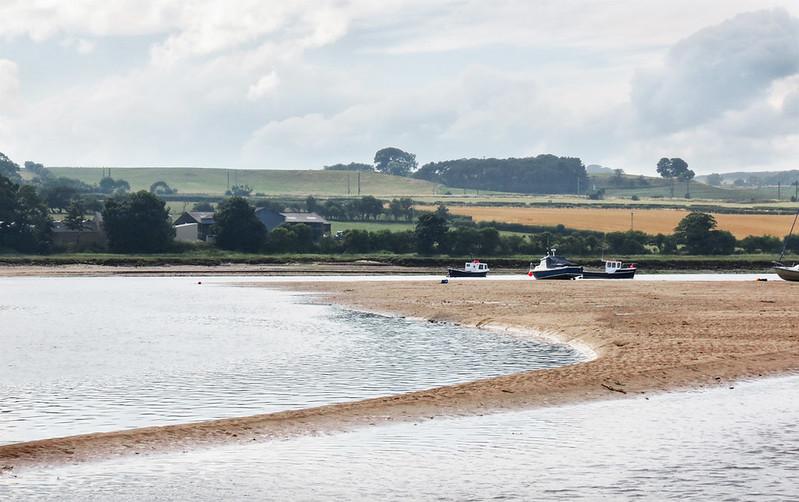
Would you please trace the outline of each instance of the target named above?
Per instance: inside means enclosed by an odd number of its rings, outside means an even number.
[[[588,175],[582,161],[555,155],[431,162],[413,176],[453,187],[500,192],[583,193],[588,188]]]

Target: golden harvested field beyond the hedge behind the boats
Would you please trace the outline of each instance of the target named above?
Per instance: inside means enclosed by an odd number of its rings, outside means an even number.
[[[670,234],[677,223],[688,214],[682,209],[591,209],[544,207],[487,207],[450,206],[450,213],[471,216],[475,221],[501,221],[524,225],[558,224],[580,230],[623,232],[640,230],[650,234]],[[793,221],[789,215],[768,214],[714,214],[719,228],[729,230],[737,238],[748,235],[776,235],[788,233]]]

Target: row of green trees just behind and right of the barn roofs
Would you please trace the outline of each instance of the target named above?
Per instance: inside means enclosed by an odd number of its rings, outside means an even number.
[[[378,218],[411,221],[414,217],[412,199],[392,199],[388,207],[384,207],[383,201],[371,195],[360,199],[328,199],[324,203],[309,196],[305,200],[305,209],[337,221],[366,221]]]

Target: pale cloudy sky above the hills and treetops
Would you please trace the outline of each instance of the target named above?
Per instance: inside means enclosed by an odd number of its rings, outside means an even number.
[[[796,0],[0,0],[0,152],[799,168]]]

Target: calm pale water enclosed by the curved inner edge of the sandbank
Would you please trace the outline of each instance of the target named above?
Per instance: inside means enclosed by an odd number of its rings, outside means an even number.
[[[230,286],[240,280],[0,279],[0,444],[305,408],[583,358]]]

